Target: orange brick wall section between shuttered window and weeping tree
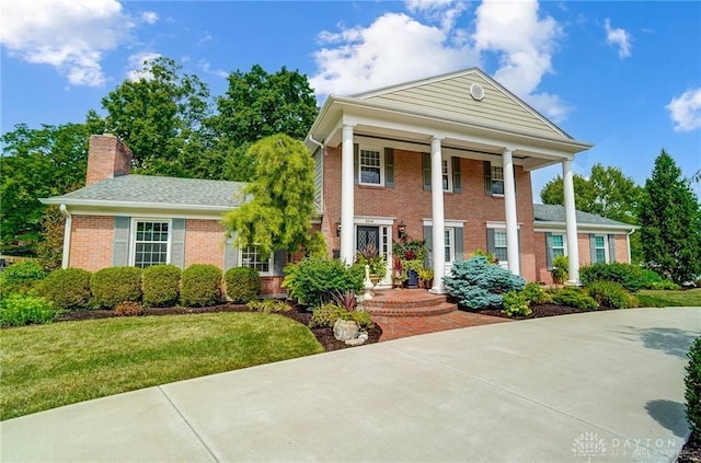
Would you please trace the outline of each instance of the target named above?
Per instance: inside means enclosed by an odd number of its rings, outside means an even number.
[[[185,221],[185,267],[211,264],[223,268],[225,229],[217,220]]]

